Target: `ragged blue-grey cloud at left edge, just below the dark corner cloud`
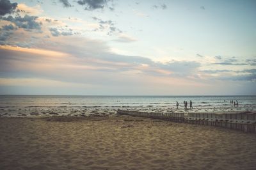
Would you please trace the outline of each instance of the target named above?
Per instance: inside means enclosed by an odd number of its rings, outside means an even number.
[[[36,16],[25,15],[24,17],[12,17],[9,15],[8,17],[2,17],[1,19],[8,20],[15,24],[17,27],[23,28],[26,31],[30,31],[31,29],[40,30],[42,25],[42,22],[36,22],[36,19],[38,19]]]

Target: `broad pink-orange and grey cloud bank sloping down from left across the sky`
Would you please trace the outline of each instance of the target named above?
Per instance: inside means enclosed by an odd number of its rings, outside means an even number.
[[[186,81],[200,82],[205,77],[209,80],[213,76],[214,79],[220,80],[222,76],[221,74],[207,75],[200,72],[199,68],[202,65],[197,61],[160,63],[141,56],[115,54],[110,51],[106,42],[81,38],[76,35],[60,36],[62,30],[58,27],[56,31],[59,32],[58,38],[51,37],[45,42],[40,41],[30,49],[15,50],[17,47],[13,47],[1,50],[1,75],[6,76],[12,73],[12,75],[19,75],[18,77],[21,75],[23,77],[47,77],[47,79],[58,81],[88,82],[90,84],[104,82],[108,86],[125,85],[124,82],[120,82],[120,77],[124,77],[126,81],[129,80],[129,77],[151,77],[151,79],[159,79],[166,83],[169,79],[179,79],[179,82],[182,80],[184,83],[188,83]],[[33,49],[40,47],[44,47],[44,49],[40,49],[40,51]],[[57,58],[54,57],[54,52],[57,54],[61,52],[67,56]],[[175,84],[175,82],[173,83]]]

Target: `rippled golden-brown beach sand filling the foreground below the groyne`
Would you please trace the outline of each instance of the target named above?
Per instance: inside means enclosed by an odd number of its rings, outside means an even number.
[[[0,118],[0,169],[255,169],[256,135],[131,116]]]

